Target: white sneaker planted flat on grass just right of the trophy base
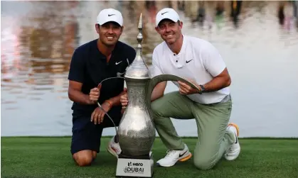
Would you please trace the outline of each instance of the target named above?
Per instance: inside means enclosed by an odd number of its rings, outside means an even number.
[[[192,156],[186,144],[184,144],[183,150],[168,150],[166,153],[166,157],[156,162],[157,165],[162,167],[171,167],[174,166],[178,161],[183,162],[189,160]]]

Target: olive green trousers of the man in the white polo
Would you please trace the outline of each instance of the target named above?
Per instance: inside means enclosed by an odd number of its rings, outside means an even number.
[[[179,91],[165,94],[151,103],[156,131],[169,150],[184,148],[183,140],[176,133],[170,118],[196,120],[198,140],[193,151],[193,162],[198,169],[211,169],[235,143],[235,135],[226,131],[231,110],[231,99],[203,105],[188,99]]]

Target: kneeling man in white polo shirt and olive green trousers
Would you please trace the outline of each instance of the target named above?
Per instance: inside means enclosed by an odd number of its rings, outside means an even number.
[[[211,169],[223,155],[227,160],[235,160],[240,153],[239,128],[229,123],[231,79],[218,50],[206,40],[183,35],[182,26],[174,9],[161,9],[157,13],[156,31],[164,42],[154,49],[152,77],[174,74],[193,82],[200,91],[182,82],[174,82],[179,91],[168,94],[164,94],[166,82],[154,88],[151,95],[154,123],[169,149],[157,164],[171,167],[191,158],[191,152],[176,133],[170,118],[195,118],[198,141],[193,162],[198,169]],[[120,101],[126,106],[127,96],[122,96]]]

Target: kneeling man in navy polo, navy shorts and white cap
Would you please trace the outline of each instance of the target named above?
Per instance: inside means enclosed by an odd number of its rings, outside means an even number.
[[[73,53],[68,75],[68,96],[73,101],[73,137],[70,152],[79,166],[87,166],[100,152],[103,128],[114,126],[110,118],[97,106],[97,101],[113,119],[116,126],[122,117],[120,96],[124,92],[123,79],[108,79],[124,73],[132,63],[134,48],[119,41],[123,31],[122,14],[104,9],[97,16],[95,29],[99,38],[78,47]],[[102,82],[102,84],[100,84]],[[107,150],[116,157],[121,152],[117,135]]]

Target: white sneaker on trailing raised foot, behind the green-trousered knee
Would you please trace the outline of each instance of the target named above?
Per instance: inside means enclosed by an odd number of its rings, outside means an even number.
[[[235,143],[233,143],[233,145],[231,145],[230,148],[225,152],[225,159],[232,161],[235,160],[240,154],[240,144],[238,140],[239,128],[235,123],[230,123],[227,130],[235,133]]]

